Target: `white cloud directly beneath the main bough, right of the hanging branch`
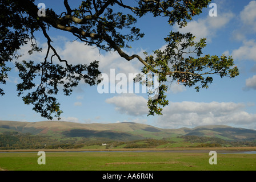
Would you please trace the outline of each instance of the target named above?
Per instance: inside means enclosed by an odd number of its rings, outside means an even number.
[[[142,64],[137,60],[127,61],[118,52],[99,51],[98,48],[86,46],[82,42],[66,42],[63,48],[58,48],[59,55],[70,64],[89,64],[94,60],[99,61],[99,70],[109,75],[110,69],[116,69],[119,73],[140,73]],[[135,52],[142,55],[142,50]],[[129,52],[129,55],[133,53]]]

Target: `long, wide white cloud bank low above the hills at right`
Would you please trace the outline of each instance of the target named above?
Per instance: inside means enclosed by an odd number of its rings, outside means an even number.
[[[256,114],[244,111],[245,106],[234,102],[171,102],[163,109],[163,115],[158,118],[157,125],[167,128],[253,125]]]

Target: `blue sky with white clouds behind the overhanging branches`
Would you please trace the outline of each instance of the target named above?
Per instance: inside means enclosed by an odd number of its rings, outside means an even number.
[[[130,0],[129,0],[130,1]],[[63,1],[43,2],[47,7],[61,12]],[[70,1],[71,2],[71,1]],[[73,7],[78,6],[79,1]],[[123,1],[125,2],[125,1]],[[236,78],[214,77],[209,89],[196,92],[194,88],[173,83],[169,85],[167,99],[169,106],[163,109],[163,115],[147,117],[147,94],[99,94],[97,86],[81,82],[73,94],[67,97],[59,92],[57,98],[61,104],[62,121],[80,123],[116,123],[138,122],[162,128],[195,127],[202,125],[229,125],[256,129],[256,1],[223,0],[212,1],[217,5],[217,17],[209,16],[211,8],[195,17],[181,32],[192,32],[197,38],[207,38],[204,54],[233,56],[240,70]],[[47,13],[47,12],[46,12]],[[165,18],[153,18],[147,15],[138,19],[137,26],[145,33],[138,42],[131,43],[132,49],[126,50],[129,55],[143,51],[151,53],[165,47],[163,38],[170,30]],[[46,39],[42,32],[37,34],[37,43],[46,48]],[[85,46],[81,42],[71,42],[75,38],[66,32],[49,32],[53,46],[62,59],[72,64],[90,63],[99,60],[102,73],[138,73],[142,64],[138,60],[126,61],[117,52],[104,52],[98,48]],[[40,61],[42,53],[27,55],[29,45],[25,45],[18,61]],[[11,65],[14,67],[13,65]],[[1,85],[5,95],[0,97],[0,120],[37,122],[45,121],[40,114],[32,110],[31,105],[24,105],[22,98],[17,97],[15,86],[21,80],[15,68],[12,69],[6,85]]]

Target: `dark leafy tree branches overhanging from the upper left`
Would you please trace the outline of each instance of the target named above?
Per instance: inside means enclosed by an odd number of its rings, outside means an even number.
[[[124,51],[125,47],[131,48],[129,42],[143,38],[144,34],[135,26],[136,18],[151,13],[154,17],[166,16],[168,18],[166,23],[170,26],[178,24],[182,27],[186,26],[187,20],[202,13],[202,9],[207,7],[210,0],[138,0],[134,1],[134,6],[126,5],[122,0],[85,0],[77,9],[71,9],[69,5],[71,1],[63,0],[65,7],[63,13],[58,15],[54,10],[47,9],[46,16],[41,17],[38,17],[38,7],[34,4],[34,0],[0,1],[5,7],[0,11],[0,83],[5,83],[9,72],[5,62],[13,60],[15,51],[27,43],[29,35],[41,30],[48,46],[45,60],[36,65],[33,61],[16,63],[23,81],[17,85],[17,89],[18,95],[25,90],[33,90],[37,85],[33,82],[34,78],[40,76],[41,84],[37,90],[23,97],[23,101],[25,104],[33,104],[35,111],[49,119],[52,118],[52,113],[57,117],[61,114],[57,100],[51,97],[52,94],[58,93],[58,84],[63,85],[63,92],[69,96],[72,88],[77,86],[81,79],[89,85],[98,84],[95,80],[100,73],[98,61],[90,65],[71,65],[68,60],[62,60],[51,45],[52,41],[47,34],[50,28],[70,32],[89,46],[97,46],[105,51],[117,51],[119,56],[127,61],[139,60],[144,66],[143,73],[158,73],[159,97],[148,101],[149,115],[161,114],[162,107],[168,104],[165,95],[167,76],[171,77],[171,82],[177,80],[185,86],[199,83],[195,86],[198,91],[207,88],[213,82],[211,75],[231,78],[239,75],[232,57],[202,56],[202,48],[206,46],[205,39],[195,42],[194,36],[190,33],[170,32],[170,35],[164,38],[167,43],[166,49],[156,50],[153,55],[145,52],[145,58],[136,54],[128,55]],[[118,9],[130,10],[131,14],[118,11],[117,6]],[[36,44],[31,46],[33,51],[40,51]],[[51,56],[50,51],[53,51]],[[55,64],[54,56],[57,56],[59,62],[65,63],[66,67]],[[3,94],[1,88],[0,94]]]

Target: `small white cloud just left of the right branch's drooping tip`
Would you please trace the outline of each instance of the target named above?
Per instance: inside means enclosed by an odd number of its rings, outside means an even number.
[[[148,113],[147,100],[136,94],[122,94],[106,100],[107,104],[114,104],[119,113],[129,115],[143,115]]]

